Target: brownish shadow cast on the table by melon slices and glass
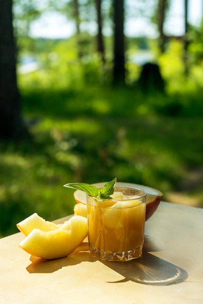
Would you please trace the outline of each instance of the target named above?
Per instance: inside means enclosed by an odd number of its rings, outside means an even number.
[[[145,239],[143,255],[138,259],[128,262],[100,261],[106,267],[121,274],[124,279],[108,283],[122,283],[133,281],[145,285],[170,285],[181,283],[188,277],[187,272],[149,252],[158,251],[149,238]],[[30,273],[54,272],[62,267],[74,266],[82,262],[95,262],[97,258],[92,257],[88,252],[88,243],[84,242],[74,254],[65,258],[44,261],[43,259],[31,256],[32,263],[26,268]],[[105,279],[105,278],[104,278]]]

